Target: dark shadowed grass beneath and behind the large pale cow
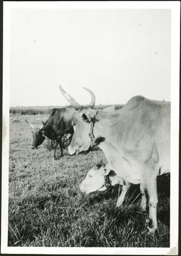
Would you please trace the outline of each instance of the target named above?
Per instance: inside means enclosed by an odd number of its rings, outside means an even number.
[[[141,195],[140,195],[140,185],[132,185],[129,188],[127,196],[125,197],[123,206],[121,208],[116,208],[116,201],[118,198],[119,185],[113,187],[111,192],[95,192],[90,195],[89,202],[87,204],[93,206],[98,203],[105,203],[107,205],[100,205],[100,209],[110,214],[118,214],[117,220],[125,221],[129,216],[133,218],[138,218],[142,221],[146,220],[148,217],[148,211],[146,213],[141,212]],[[158,190],[158,207],[157,207],[157,217],[158,221],[162,222],[163,225],[170,226],[170,175],[162,175],[157,179],[157,190]],[[120,189],[121,191],[121,189]],[[112,202],[110,203],[110,201]],[[111,209],[109,209],[110,204],[112,204]],[[102,212],[102,213],[103,213]]]

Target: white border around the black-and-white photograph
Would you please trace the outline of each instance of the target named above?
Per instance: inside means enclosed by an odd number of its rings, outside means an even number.
[[[170,247],[10,247],[7,246],[9,195],[9,107],[10,107],[10,10],[11,9],[171,9],[171,170]],[[178,254],[179,188],[179,1],[108,1],[108,2],[3,2],[3,125],[2,125],[2,215],[1,253],[6,254]]]

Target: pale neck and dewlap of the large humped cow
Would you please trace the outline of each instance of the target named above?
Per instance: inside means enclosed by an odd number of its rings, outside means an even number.
[[[99,147],[111,164],[112,170],[125,180],[138,184],[140,183],[140,166],[136,160],[134,161],[132,154],[127,152],[124,142],[127,115],[120,110],[109,113],[98,112],[94,124],[94,136],[104,138]]]

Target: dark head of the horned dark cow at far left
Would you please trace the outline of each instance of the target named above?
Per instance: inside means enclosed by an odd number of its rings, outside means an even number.
[[[27,119],[26,119],[26,122],[32,129],[33,141],[31,144],[31,148],[35,149],[44,142],[45,137],[42,132],[43,125],[41,125],[41,127],[35,127],[34,125],[32,125],[32,123],[28,122]]]

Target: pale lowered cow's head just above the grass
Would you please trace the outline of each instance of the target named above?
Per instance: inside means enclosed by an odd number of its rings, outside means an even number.
[[[89,172],[87,173],[86,178],[82,181],[80,189],[82,192],[89,194],[94,191],[104,191],[107,189],[106,179],[108,176],[109,182],[111,185],[119,183],[119,179],[116,179],[117,175],[114,171],[111,170],[109,164],[96,164]]]

